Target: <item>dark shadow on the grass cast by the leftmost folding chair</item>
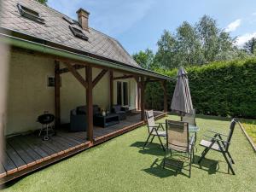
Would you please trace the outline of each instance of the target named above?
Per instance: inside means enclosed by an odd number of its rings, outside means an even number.
[[[144,144],[145,144],[144,142],[136,142],[136,143],[132,143],[131,147],[139,148],[140,149],[139,153],[141,154],[152,154],[156,156],[164,156],[165,152],[161,147],[160,143],[148,143],[147,146],[143,148]]]

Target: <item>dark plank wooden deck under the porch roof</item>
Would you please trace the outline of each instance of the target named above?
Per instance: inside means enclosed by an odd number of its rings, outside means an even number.
[[[154,112],[154,115],[156,118],[161,118],[165,113]],[[34,134],[10,137],[6,140],[0,163],[0,184],[77,154],[141,125],[144,125],[144,122],[140,120],[140,114],[131,113],[118,125],[107,128],[94,127],[94,143],[87,141],[85,131],[59,130],[49,141],[43,141]]]

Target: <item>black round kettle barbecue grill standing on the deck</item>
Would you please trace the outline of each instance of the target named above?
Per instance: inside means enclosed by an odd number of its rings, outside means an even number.
[[[38,122],[42,125],[38,137],[41,137],[41,134],[43,131],[45,131],[45,135],[43,137],[44,141],[49,140],[49,131],[53,131],[53,125],[54,125],[54,121],[55,121],[55,115],[48,113],[48,112],[44,112],[44,114],[41,114],[38,116]]]

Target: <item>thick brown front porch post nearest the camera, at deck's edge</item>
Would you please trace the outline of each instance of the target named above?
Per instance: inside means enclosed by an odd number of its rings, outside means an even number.
[[[93,107],[92,107],[92,68],[90,66],[85,67],[85,77],[87,82],[86,89],[86,117],[87,117],[87,140],[93,143]]]

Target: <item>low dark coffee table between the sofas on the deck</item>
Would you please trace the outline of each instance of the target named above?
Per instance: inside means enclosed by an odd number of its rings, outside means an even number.
[[[93,124],[96,126],[101,126],[103,128],[119,124],[119,114],[110,113],[106,116],[98,114],[93,118]]]

